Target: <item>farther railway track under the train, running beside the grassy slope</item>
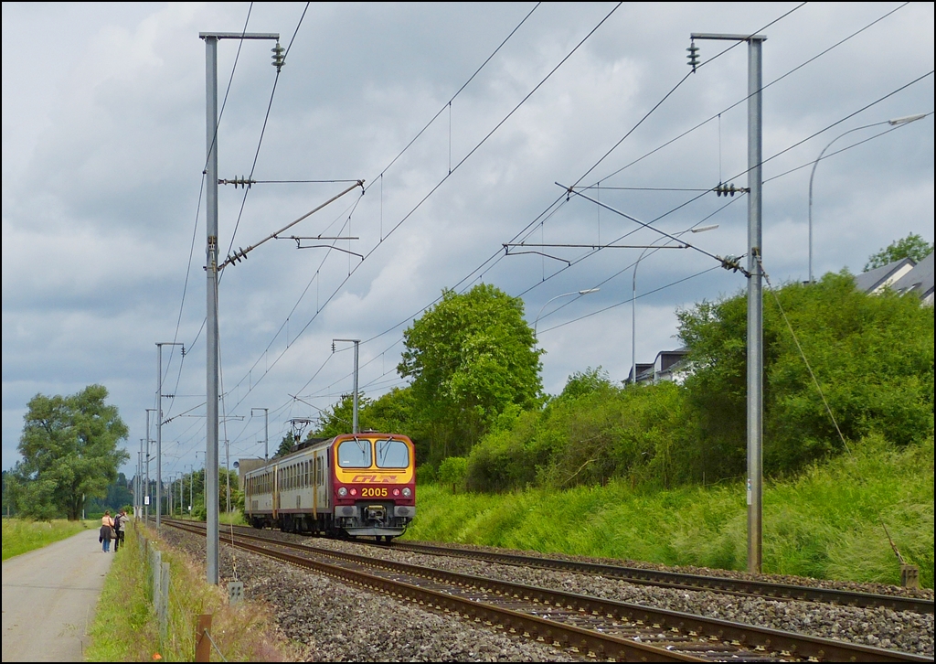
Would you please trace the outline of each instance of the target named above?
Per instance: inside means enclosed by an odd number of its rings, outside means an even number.
[[[832,588],[813,588],[786,583],[730,579],[719,576],[705,576],[701,574],[686,574],[657,569],[578,562],[538,555],[522,555],[519,553],[477,551],[475,549],[459,549],[457,547],[434,546],[422,543],[394,542],[391,548],[397,551],[407,551],[411,553],[426,553],[430,555],[465,557],[473,560],[487,560],[502,565],[554,569],[557,571],[578,572],[581,574],[597,574],[610,579],[621,579],[629,583],[642,583],[666,588],[709,590],[717,593],[771,599],[797,599],[800,601],[824,602],[826,604],[839,604],[841,606],[854,606],[864,609],[884,607],[894,611],[933,613],[932,599],[875,595]]]

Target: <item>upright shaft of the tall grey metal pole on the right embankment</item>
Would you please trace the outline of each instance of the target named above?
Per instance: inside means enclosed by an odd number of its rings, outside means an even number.
[[[761,46],[748,41],[748,571],[761,571],[762,477],[764,446],[764,301],[761,232]]]

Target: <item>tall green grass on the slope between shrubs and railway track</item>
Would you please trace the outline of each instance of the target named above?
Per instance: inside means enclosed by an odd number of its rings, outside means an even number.
[[[764,490],[763,568],[858,582],[899,583],[899,562],[882,526],[920,581],[933,587],[933,440],[897,449],[870,436],[797,478]],[[563,492],[452,494],[420,485],[406,539],[435,539],[744,569],[744,486],[641,491],[625,482]]]

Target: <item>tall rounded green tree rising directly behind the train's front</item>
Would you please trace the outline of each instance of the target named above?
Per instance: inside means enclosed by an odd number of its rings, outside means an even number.
[[[397,370],[413,379],[414,415],[431,461],[463,455],[506,406],[542,402],[541,365],[523,302],[481,284],[442,301],[403,332]]]

